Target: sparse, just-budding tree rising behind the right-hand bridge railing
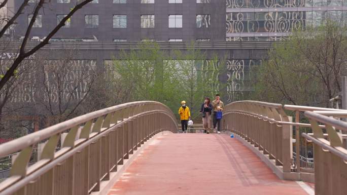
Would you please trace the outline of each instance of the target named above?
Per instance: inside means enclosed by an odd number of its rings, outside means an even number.
[[[327,106],[341,90],[346,73],[346,28],[327,21],[315,29],[297,31],[268,52],[259,68],[254,99],[296,105]]]

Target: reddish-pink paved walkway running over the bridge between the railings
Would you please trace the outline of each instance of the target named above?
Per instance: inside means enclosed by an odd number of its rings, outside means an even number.
[[[168,134],[130,165],[109,194],[307,194],[283,181],[235,138]]]

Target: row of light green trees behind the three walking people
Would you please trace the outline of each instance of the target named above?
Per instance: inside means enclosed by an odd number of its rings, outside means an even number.
[[[222,61],[217,55],[206,60],[205,53],[193,44],[185,52],[170,52],[175,60],[155,42],[142,42],[137,49],[121,52],[109,74],[131,90],[130,101],[159,101],[175,112],[185,100],[192,118],[197,119],[203,98],[212,98],[219,91],[215,86]]]

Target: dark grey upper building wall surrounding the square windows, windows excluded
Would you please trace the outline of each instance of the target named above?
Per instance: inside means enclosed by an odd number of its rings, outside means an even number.
[[[22,1],[15,1],[17,10]],[[32,36],[46,36],[57,24],[57,14],[67,14],[77,0],[70,4],[57,4],[56,0],[45,4],[40,11],[43,16],[42,28],[33,28]],[[32,13],[34,3],[29,3],[18,18],[16,35],[23,36],[28,25],[28,15]],[[212,1],[210,4],[197,4],[196,0],[186,0],[182,4],[168,4],[168,0],[156,0],[155,4],[141,4],[141,0],[127,0],[126,4],[113,4],[113,0],[99,0],[98,4],[88,4],[77,11],[71,19],[70,28],[61,28],[55,37],[93,37],[99,41],[126,39],[140,41],[144,38],[155,41],[168,41],[169,38],[181,38],[183,41],[195,41],[197,38],[210,38],[211,41],[225,41],[225,2]],[[182,28],[168,28],[168,15],[183,15]],[[210,14],[209,28],[196,27],[197,14]],[[98,28],[85,28],[85,15],[99,15]],[[127,28],[113,28],[113,15],[126,15]],[[141,15],[155,15],[154,28],[141,28]]]

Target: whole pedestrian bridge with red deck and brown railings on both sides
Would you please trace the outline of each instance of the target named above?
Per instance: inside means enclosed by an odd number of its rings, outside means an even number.
[[[167,106],[125,103],[0,145],[0,158],[12,156],[0,194],[342,195],[346,118],[347,110],[239,101],[225,106],[222,134],[177,134]],[[293,144],[312,146],[314,161]]]

